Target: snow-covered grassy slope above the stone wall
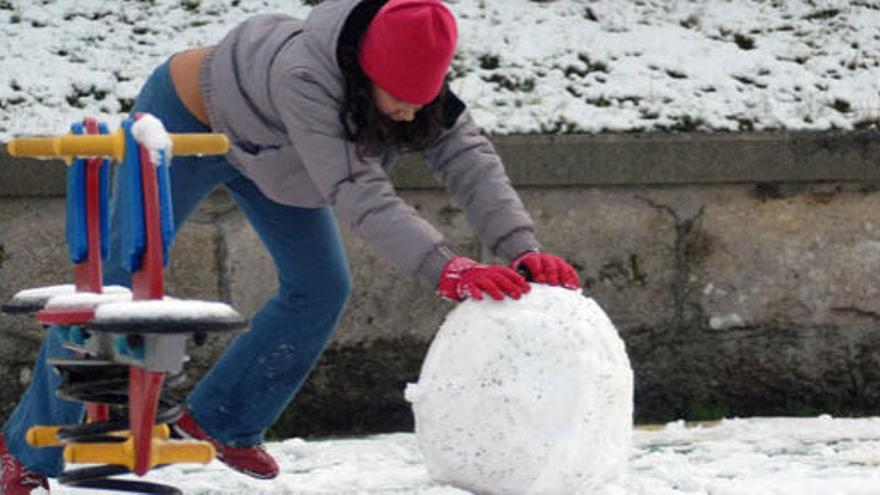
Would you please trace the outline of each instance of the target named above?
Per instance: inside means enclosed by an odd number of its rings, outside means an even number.
[[[117,122],[155,65],[315,0],[0,0],[0,140]],[[452,85],[492,133],[880,122],[877,0],[448,0]]]

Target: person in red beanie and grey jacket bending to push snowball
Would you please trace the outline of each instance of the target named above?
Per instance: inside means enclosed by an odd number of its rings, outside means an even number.
[[[491,144],[447,87],[455,51],[452,14],[439,0],[334,0],[305,21],[260,15],[218,45],[173,56],[146,82],[135,112],[170,132],[222,132],[224,157],[177,157],[171,167],[175,228],[225,186],[271,253],[278,292],[186,400],[179,434],[210,441],[218,458],[256,478],[278,475],[265,430],[292,399],[336,327],[350,292],[331,207],[405,273],[462,301],[518,299],[532,281],[580,286],[575,270],[542,253],[533,223]],[[481,241],[509,262],[456,256],[394,192],[393,153],[419,150]],[[115,232],[117,229],[113,229]],[[107,284],[128,284],[118,238]],[[82,405],[53,395],[46,355],[0,437],[3,495],[29,493],[62,469],[56,449],[32,449],[34,424],[75,423]],[[4,443],[5,439],[5,443]]]

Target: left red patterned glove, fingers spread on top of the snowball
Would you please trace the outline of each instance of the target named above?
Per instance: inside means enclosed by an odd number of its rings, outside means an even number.
[[[449,260],[440,273],[437,292],[453,301],[464,301],[473,297],[483,300],[483,292],[498,301],[507,295],[514,299],[531,290],[526,279],[515,271],[502,265],[483,265],[476,261],[457,256]]]

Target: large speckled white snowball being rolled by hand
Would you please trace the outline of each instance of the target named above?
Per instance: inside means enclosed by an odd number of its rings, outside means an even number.
[[[618,481],[633,377],[611,321],[580,292],[467,301],[406,391],[431,477],[477,493],[596,493]]]

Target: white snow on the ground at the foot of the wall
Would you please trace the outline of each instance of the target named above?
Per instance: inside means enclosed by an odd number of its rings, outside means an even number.
[[[433,484],[409,433],[270,443],[282,473],[257,481],[217,461],[147,474],[187,495],[413,494],[467,492]],[[53,483],[52,493],[81,490]],[[591,495],[876,495],[880,418],[750,418],[637,429],[626,481]],[[569,494],[565,494],[569,495]]]

